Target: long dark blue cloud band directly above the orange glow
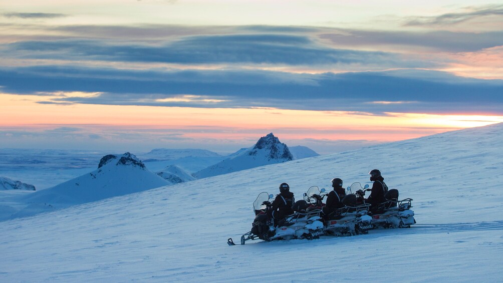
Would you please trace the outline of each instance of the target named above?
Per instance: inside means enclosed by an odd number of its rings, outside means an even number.
[[[0,85],[4,92],[19,94],[100,93],[91,97],[55,96],[48,101],[63,104],[503,113],[503,81],[466,79],[424,70],[312,75],[250,70],[165,72],[44,66],[1,69]],[[187,95],[196,99],[170,100]]]

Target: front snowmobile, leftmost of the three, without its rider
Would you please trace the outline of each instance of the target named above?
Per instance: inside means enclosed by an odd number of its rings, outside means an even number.
[[[315,239],[323,235],[323,223],[320,221],[321,210],[309,212],[298,211],[287,216],[283,221],[274,223],[269,219],[268,212],[272,209],[273,195],[266,192],[260,193],[253,203],[255,219],[251,231],[241,236],[241,245],[247,240],[261,239],[264,241],[290,240],[290,239]],[[227,244],[234,245],[232,238]]]

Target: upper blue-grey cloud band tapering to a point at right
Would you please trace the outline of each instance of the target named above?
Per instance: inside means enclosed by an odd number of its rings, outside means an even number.
[[[307,37],[289,35],[196,36],[156,45],[83,40],[23,41],[4,48],[6,56],[37,59],[286,65],[387,62],[393,67],[421,64],[392,53],[331,49],[314,44]]]

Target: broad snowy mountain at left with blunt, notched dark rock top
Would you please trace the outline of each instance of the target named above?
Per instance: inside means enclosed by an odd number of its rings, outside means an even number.
[[[98,169],[25,197],[28,203],[45,203],[53,207],[94,202],[171,184],[146,169],[133,154],[109,154],[100,160]]]

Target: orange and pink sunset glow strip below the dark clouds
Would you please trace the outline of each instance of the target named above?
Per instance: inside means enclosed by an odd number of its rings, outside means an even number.
[[[80,93],[70,93],[80,96]],[[86,95],[86,94],[84,94]],[[280,129],[284,139],[397,141],[461,128],[503,122],[502,116],[431,115],[343,111],[304,111],[270,108],[182,108],[117,105],[39,104],[40,96],[0,95],[0,127],[50,128],[100,125],[122,129],[185,129],[184,137],[236,139],[236,132]],[[52,125],[52,126],[51,126]],[[96,125],[96,126],[94,126]],[[268,131],[268,130],[266,130]],[[155,134],[155,133],[154,133]],[[267,134],[267,133],[264,133]],[[247,134],[239,134],[240,138]],[[249,133],[249,138],[257,134]]]

